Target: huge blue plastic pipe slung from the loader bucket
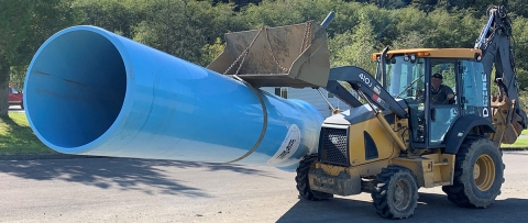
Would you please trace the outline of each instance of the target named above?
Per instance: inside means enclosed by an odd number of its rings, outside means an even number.
[[[304,101],[95,26],[63,30],[40,47],[24,105],[37,137],[61,153],[286,169],[317,150],[322,123]]]

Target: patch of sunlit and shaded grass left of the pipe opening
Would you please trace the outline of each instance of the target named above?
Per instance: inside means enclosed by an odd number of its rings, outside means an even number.
[[[36,138],[25,113],[10,112],[9,118],[0,118],[0,155],[54,153]]]

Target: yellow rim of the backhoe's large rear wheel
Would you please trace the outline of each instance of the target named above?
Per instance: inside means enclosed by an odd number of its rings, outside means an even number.
[[[495,180],[495,163],[487,154],[479,156],[473,168],[473,179],[476,187],[486,191],[492,188]]]

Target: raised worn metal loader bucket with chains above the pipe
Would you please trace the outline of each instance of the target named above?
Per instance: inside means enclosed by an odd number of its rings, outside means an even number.
[[[255,87],[326,87],[326,29],[307,23],[226,34],[226,48],[207,68]]]

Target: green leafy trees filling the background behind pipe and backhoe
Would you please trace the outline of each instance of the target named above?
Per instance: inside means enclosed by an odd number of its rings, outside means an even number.
[[[333,11],[327,29],[332,66],[373,73],[371,54],[385,46],[473,47],[492,4],[505,4],[513,19],[524,89],[528,8],[522,0],[0,0],[0,115],[7,114],[8,83],[23,85],[37,47],[73,25],[100,26],[206,66],[223,49],[227,32],[321,22]]]

